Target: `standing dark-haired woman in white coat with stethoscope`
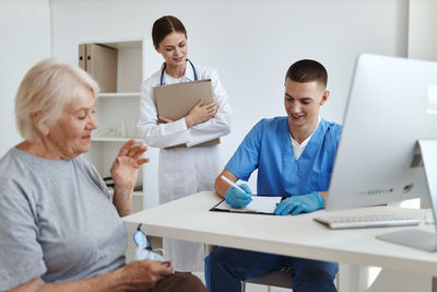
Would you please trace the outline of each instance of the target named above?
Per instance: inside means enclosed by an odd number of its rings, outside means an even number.
[[[214,179],[223,168],[220,148],[218,144],[199,144],[229,133],[231,107],[216,70],[188,59],[187,31],[177,17],[156,20],[152,38],[165,62],[142,84],[138,127],[146,144],[160,148],[160,203],[164,203],[198,191],[214,190]],[[211,79],[214,103],[205,105],[200,100],[179,120],[157,115],[153,87],[202,79]],[[179,144],[186,147],[174,148]],[[164,240],[164,250],[175,270],[203,270],[203,245]]]

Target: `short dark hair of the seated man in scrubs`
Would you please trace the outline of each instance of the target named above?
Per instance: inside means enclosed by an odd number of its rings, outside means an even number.
[[[290,78],[296,82],[311,82],[317,81],[323,89],[327,87],[328,72],[324,67],[315,60],[304,59],[293,63],[286,73],[286,78]]]

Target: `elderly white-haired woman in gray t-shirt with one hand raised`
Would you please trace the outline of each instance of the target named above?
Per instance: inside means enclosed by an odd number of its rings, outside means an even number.
[[[110,173],[114,205],[81,156],[97,128],[98,87],[86,72],[55,60],[37,63],[15,96],[24,141],[0,160],[0,290],[206,291],[168,264],[125,264],[132,189],[146,150],[123,144]]]

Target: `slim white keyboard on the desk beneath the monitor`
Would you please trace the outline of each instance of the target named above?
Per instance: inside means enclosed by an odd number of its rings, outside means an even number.
[[[332,230],[412,226],[421,223],[417,218],[401,214],[327,215],[315,218],[314,220],[328,225]]]

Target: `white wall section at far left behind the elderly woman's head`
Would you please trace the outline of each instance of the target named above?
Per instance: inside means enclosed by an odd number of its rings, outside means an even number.
[[[24,74],[50,57],[48,0],[0,1],[0,156],[21,141],[15,127],[14,96]]]

